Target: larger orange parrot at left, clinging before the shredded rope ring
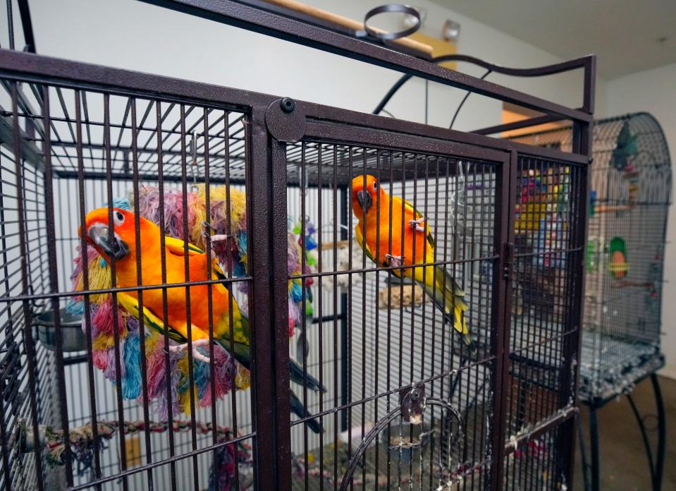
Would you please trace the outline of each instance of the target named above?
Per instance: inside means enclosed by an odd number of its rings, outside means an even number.
[[[113,239],[109,241],[109,209],[93,210],[85,218],[85,236],[105,260],[115,259],[116,286],[118,288],[138,286],[136,266],[135,214],[120,208],[112,209]],[[148,219],[138,217],[140,229],[141,284],[161,285],[185,282],[185,242],[170,236],[164,237],[166,258],[166,281],[162,281],[159,260],[161,257],[161,234],[159,226]],[[80,231],[82,233],[82,231]],[[208,232],[205,231],[205,234]],[[214,236],[213,238],[218,238]],[[211,269],[213,279],[225,279],[216,257],[207,264],[207,254],[197,246],[188,243],[188,270],[190,282],[207,281],[207,272]],[[213,321],[214,342],[219,344],[245,368],[251,368],[249,339],[249,321],[240,311],[231,291],[223,284],[191,285],[190,290],[190,335],[192,353],[195,358],[209,362],[209,358],[197,351],[199,346],[209,345],[209,306],[207,292],[211,289],[211,320]],[[137,291],[118,291],[118,303],[134,317],[143,317],[145,325],[152,327],[178,345],[170,346],[171,351],[183,351],[188,348],[188,318],[186,312],[185,286],[166,289],[166,310],[168,319],[163,320],[164,289],[143,291],[143,310],[139,310]],[[232,308],[232,310],[231,310]],[[232,326],[231,326],[232,320]],[[231,344],[233,349],[231,349]],[[297,384],[307,384],[314,391],[326,392],[315,377],[305,372],[295,360],[289,360],[290,380]],[[291,391],[291,410],[299,418],[307,418],[309,413],[298,397]],[[321,424],[314,419],[307,420],[314,432],[321,432]]]

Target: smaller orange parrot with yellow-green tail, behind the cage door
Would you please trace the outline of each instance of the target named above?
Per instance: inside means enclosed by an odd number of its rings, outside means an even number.
[[[465,292],[443,267],[434,266],[434,236],[430,227],[424,226],[422,214],[410,202],[398,196],[390,198],[378,179],[370,175],[352,179],[352,211],[359,221],[355,236],[367,256],[379,266],[402,267],[391,272],[422,286],[445,319],[462,334],[465,344],[473,347],[465,319]]]

